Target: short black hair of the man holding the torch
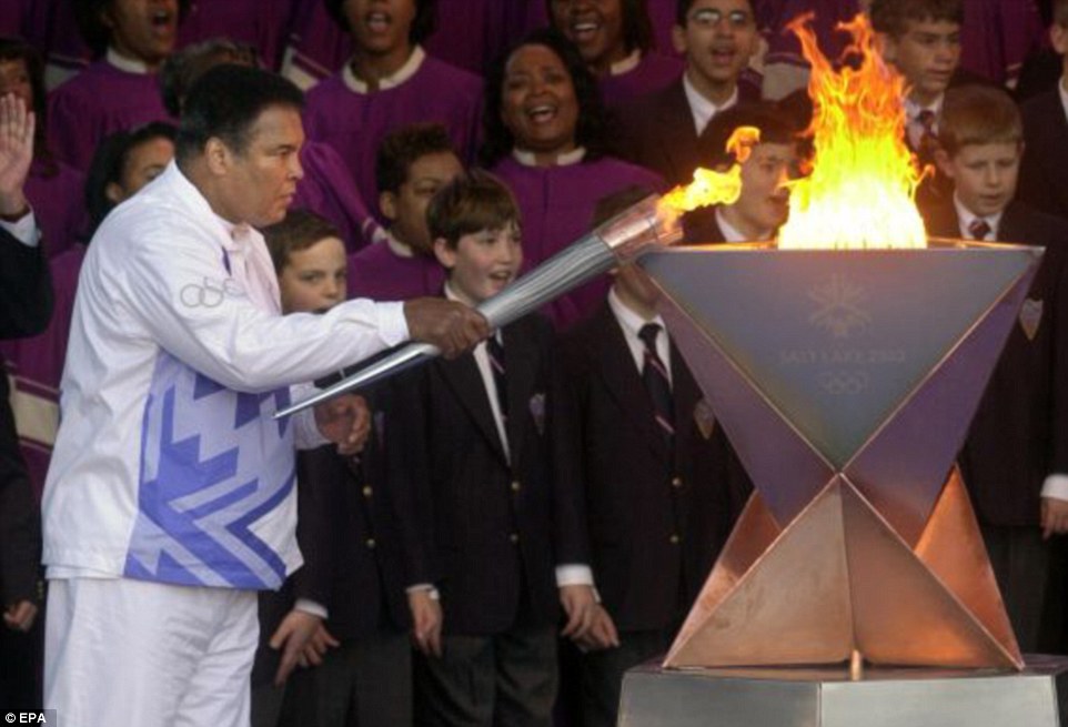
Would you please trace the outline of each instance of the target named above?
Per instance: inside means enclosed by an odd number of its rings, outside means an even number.
[[[256,119],[271,107],[300,111],[304,94],[275,73],[244,65],[216,65],[200,77],[185,97],[174,156],[181,164],[203,152],[212,138],[221,139],[235,153],[243,153]]]

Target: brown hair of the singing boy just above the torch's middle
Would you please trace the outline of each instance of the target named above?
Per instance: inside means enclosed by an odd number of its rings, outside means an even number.
[[[512,190],[481,169],[472,169],[437,190],[426,206],[431,238],[443,239],[452,249],[473,232],[520,226],[520,218]]]

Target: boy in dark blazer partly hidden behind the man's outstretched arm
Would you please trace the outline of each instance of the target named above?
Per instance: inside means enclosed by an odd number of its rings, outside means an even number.
[[[322,313],[344,300],[337,229],[299,210],[263,232],[284,312]],[[324,446],[296,460],[304,565],[281,593],[260,596],[253,727],[412,724],[409,632],[433,643],[441,612],[412,493],[389,481],[389,386],[363,393],[373,414],[359,455]],[[296,664],[311,668],[290,675]]]

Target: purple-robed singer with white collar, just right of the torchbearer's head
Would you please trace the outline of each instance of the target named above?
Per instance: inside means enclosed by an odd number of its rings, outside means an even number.
[[[308,92],[308,137],[332,145],[349,165],[364,200],[376,199],[370,160],[391,130],[420,121],[449,129],[461,158],[476,148],[482,108],[478,77],[429,55],[430,0],[328,0],[350,30],[353,54],[342,71]]]

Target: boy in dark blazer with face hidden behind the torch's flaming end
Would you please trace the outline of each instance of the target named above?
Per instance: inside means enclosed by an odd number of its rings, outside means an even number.
[[[749,491],[658,299],[623,266],[560,342],[553,458],[561,486],[581,494],[601,597],[577,639],[586,727],[614,726],[623,673],[667,650]]]

